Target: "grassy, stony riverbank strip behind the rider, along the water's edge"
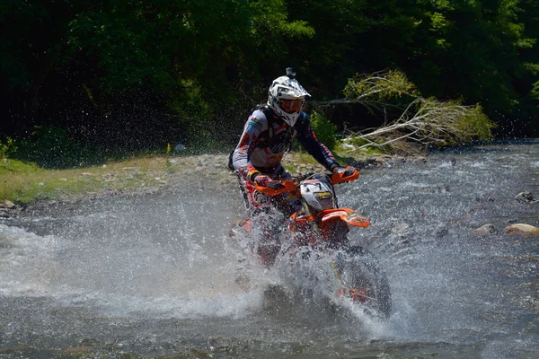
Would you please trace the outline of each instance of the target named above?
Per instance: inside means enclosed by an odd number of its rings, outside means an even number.
[[[418,155],[362,155],[339,157],[342,165],[358,169],[392,166],[400,162],[426,161]],[[24,210],[110,196],[142,196],[174,188],[232,187],[234,174],[227,169],[227,154],[152,156],[69,170],[23,170],[15,162],[0,164],[0,217]],[[287,153],[283,164],[292,174],[322,172],[323,167],[307,153]]]

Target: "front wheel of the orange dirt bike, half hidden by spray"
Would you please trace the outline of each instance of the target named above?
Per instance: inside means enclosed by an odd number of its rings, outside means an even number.
[[[389,282],[374,254],[362,247],[348,247],[337,253],[334,267],[340,284],[336,296],[348,297],[374,315],[390,316]]]

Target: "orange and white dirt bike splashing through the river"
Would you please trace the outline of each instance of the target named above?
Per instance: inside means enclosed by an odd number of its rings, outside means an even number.
[[[333,185],[358,179],[348,167],[332,175],[309,173],[294,180],[273,180],[254,185],[270,199],[283,194],[298,198],[301,209],[289,216],[281,232],[278,259],[293,264],[297,285],[310,285],[330,293],[335,301],[348,301],[378,316],[389,317],[391,294],[387,277],[375,256],[350,246],[349,227],[367,228],[370,222],[350,208],[340,208]],[[236,223],[232,236],[251,232],[251,220]],[[305,266],[309,262],[309,266]],[[303,268],[298,270],[299,268]],[[305,267],[309,268],[305,270]]]

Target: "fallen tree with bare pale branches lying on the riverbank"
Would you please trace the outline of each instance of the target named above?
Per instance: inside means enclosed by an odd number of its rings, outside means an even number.
[[[361,132],[346,130],[344,141],[355,139],[354,143],[361,143],[358,149],[387,147],[398,141],[422,146],[469,144],[489,140],[490,129],[495,126],[479,105],[464,106],[461,101],[442,102],[421,97],[413,83],[398,71],[358,75],[349,80],[344,94],[345,99],[318,105],[359,103],[371,114],[384,118],[382,127]],[[401,115],[387,118],[387,113],[394,114],[395,110]]]

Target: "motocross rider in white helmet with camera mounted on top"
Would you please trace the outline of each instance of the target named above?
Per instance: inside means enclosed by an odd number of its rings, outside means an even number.
[[[278,254],[278,233],[283,221],[271,215],[272,208],[275,209],[273,201],[258,191],[253,183],[263,187],[271,180],[290,180],[291,175],[281,165],[281,160],[293,138],[297,138],[307,153],[326,170],[332,173],[344,171],[331,151],[314,135],[309,116],[302,111],[305,97],[311,95],[295,76],[296,72],[289,67],[286,76],[280,76],[271,83],[268,102],[252,110],[231,155],[251,217],[251,228],[261,231],[257,253],[261,263],[266,265],[273,264]],[[283,196],[292,206],[295,198],[291,194]],[[278,211],[287,218],[297,209],[291,206],[288,209],[279,206]]]

